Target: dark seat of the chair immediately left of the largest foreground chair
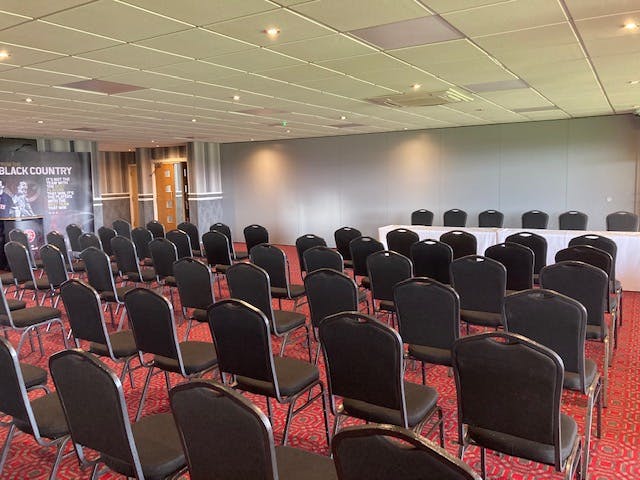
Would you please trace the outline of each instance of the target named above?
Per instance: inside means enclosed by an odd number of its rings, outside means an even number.
[[[404,382],[404,394],[407,402],[407,422],[410,428],[418,425],[436,407],[438,392],[426,385]],[[381,407],[362,400],[344,398],[344,412],[352,417],[374,423],[389,423],[403,426],[399,410]]]

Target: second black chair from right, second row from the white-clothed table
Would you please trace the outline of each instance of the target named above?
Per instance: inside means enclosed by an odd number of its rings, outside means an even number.
[[[533,250],[518,243],[492,245],[484,256],[500,262],[507,269],[507,293],[533,288]]]

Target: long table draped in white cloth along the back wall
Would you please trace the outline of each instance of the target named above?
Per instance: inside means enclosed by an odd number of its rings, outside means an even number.
[[[432,238],[438,240],[440,235],[451,230],[463,230],[472,233],[478,239],[478,254],[482,255],[487,247],[502,243],[505,239],[522,228],[456,228],[456,227],[425,227],[421,225],[386,225],[378,228],[380,241],[387,245],[387,233],[395,228],[406,228],[418,234],[420,240]],[[555,262],[555,255],[569,245],[574,237],[585,234],[602,235],[608,237],[618,245],[616,258],[616,277],[622,282],[625,290],[640,291],[640,232],[597,232],[581,230],[528,230],[541,235],[547,240],[547,264]]]

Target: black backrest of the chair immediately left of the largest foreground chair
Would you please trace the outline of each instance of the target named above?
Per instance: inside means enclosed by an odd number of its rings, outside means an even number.
[[[407,426],[402,340],[391,327],[357,312],[327,317],[318,328],[334,395],[400,412]],[[335,406],[334,406],[335,411]]]

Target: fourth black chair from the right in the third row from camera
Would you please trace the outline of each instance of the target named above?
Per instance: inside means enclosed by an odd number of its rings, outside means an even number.
[[[271,334],[282,337],[280,356],[289,340],[289,335],[299,329],[306,331],[306,341],[311,361],[311,337],[306,317],[303,313],[289,310],[276,310],[272,306],[269,274],[252,263],[236,263],[227,270],[227,285],[232,298],[253,305],[269,319]]]

